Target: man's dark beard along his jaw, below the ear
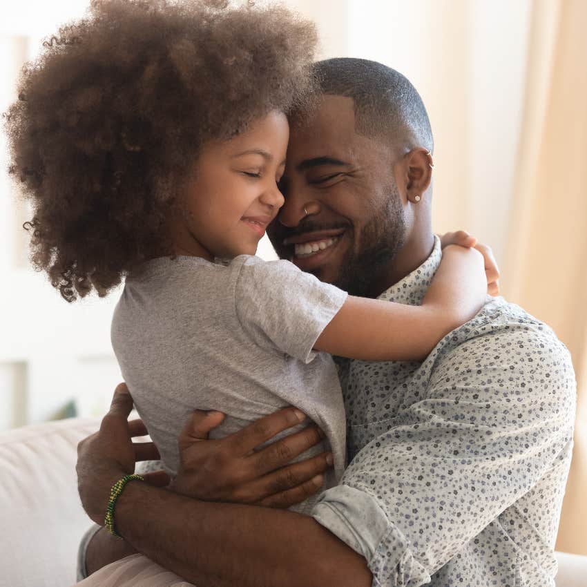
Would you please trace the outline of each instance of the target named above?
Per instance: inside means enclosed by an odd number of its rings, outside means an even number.
[[[374,298],[381,294],[374,291],[378,273],[394,260],[405,243],[405,220],[400,196],[395,188],[389,190],[389,198],[360,233],[358,251],[350,248],[334,285],[352,296]]]

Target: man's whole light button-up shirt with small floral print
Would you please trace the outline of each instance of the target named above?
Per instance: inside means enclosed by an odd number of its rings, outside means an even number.
[[[380,299],[421,303],[430,257]],[[374,586],[554,585],[575,375],[552,330],[503,298],[423,363],[340,361],[349,466],[314,517]]]

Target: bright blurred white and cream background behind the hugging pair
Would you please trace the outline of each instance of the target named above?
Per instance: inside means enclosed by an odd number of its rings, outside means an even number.
[[[490,244],[503,295],[572,353],[577,431],[557,548],[587,554],[587,2],[288,0],[318,24],[321,57],[375,59],[421,93],[435,137],[434,229]],[[0,110],[23,63],[86,0],[0,8]],[[117,292],[68,305],[28,266],[30,219],[0,139],[0,430],[104,413],[119,369]],[[272,258],[268,242],[258,254]],[[583,300],[583,301],[581,301]]]

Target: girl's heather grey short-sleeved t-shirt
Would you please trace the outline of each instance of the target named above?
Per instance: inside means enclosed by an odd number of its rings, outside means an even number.
[[[195,409],[227,414],[211,434],[220,438],[295,405],[326,435],[300,458],[331,450],[325,488],[334,487],[345,468],[343,397],[331,357],[313,347],[346,297],[288,261],[246,255],[157,258],[128,276],[112,344],[164,468],[177,472],[177,436]],[[308,513],[316,499],[292,509]]]

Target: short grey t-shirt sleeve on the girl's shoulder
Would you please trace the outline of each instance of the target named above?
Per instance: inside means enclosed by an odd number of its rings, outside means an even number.
[[[235,308],[244,331],[269,347],[309,363],[318,336],[347,292],[304,273],[289,261],[247,257],[235,280]]]

